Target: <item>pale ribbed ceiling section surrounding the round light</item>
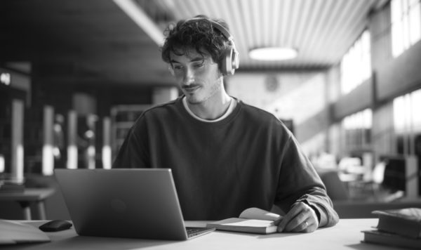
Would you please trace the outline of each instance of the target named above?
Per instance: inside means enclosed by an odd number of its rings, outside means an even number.
[[[158,0],[176,19],[204,14],[227,21],[241,55],[240,70],[323,68],[335,65],[366,27],[376,0]],[[251,48],[290,46],[293,60],[261,62]]]

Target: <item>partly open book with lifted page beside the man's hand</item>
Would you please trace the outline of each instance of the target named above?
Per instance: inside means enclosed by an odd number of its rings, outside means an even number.
[[[239,218],[227,218],[222,221],[208,223],[207,228],[216,230],[250,232],[255,234],[269,234],[276,232],[278,228],[274,221],[281,218],[279,214],[271,213],[258,208],[249,208],[244,210]]]

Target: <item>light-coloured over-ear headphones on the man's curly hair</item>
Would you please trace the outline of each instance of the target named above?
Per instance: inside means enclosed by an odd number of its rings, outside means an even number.
[[[224,51],[224,56],[222,58],[222,61],[220,62],[220,65],[222,74],[224,74],[225,76],[234,74],[235,70],[238,69],[240,65],[239,52],[235,48],[234,37],[232,37],[228,29],[220,25],[220,23],[215,22],[214,20],[210,20],[208,18],[191,18],[185,20],[185,22],[190,22],[194,20],[208,20],[212,23],[212,26],[215,29],[218,29],[224,35],[224,37],[226,37],[231,43],[231,46],[229,46],[229,48],[227,48]]]

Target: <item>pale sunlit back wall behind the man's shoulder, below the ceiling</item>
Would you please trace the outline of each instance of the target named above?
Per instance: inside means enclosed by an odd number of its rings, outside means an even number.
[[[307,153],[325,147],[329,124],[327,74],[241,73],[227,79],[227,92],[243,102],[292,119],[295,137]]]

